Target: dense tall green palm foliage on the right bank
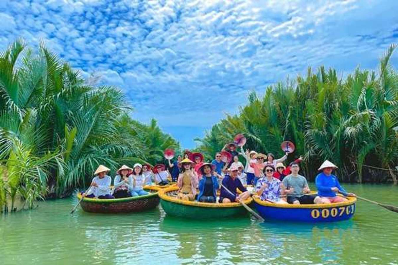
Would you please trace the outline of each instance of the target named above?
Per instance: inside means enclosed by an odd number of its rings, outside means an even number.
[[[268,87],[261,98],[252,92],[235,116],[227,115],[199,141],[199,150],[213,157],[237,133],[248,139],[245,148],[282,156],[280,144],[293,141],[303,155],[302,168],[313,179],[329,159],[345,181],[362,182],[364,164],[386,168],[372,182],[397,183],[398,74],[390,66],[392,45],[380,59],[378,72],[355,70],[339,78],[336,70],[308,69],[305,78]],[[381,179],[380,179],[381,178]]]

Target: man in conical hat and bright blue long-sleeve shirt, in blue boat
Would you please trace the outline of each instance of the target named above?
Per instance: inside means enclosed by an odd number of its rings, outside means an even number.
[[[344,196],[355,197],[354,193],[347,193],[347,191],[340,186],[337,177],[332,175],[334,168],[337,168],[337,166],[328,160],[323,162],[319,167],[318,170],[322,170],[322,172],[315,178],[315,185],[318,189],[319,196],[315,199],[315,203],[339,203],[348,201],[343,197],[337,196],[336,192],[339,192]]]

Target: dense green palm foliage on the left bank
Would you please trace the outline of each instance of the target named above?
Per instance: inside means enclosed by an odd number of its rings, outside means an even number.
[[[114,173],[179,147],[131,110],[119,89],[82,79],[43,45],[33,53],[13,43],[0,54],[0,205],[19,195],[31,208],[84,185],[99,164]]]

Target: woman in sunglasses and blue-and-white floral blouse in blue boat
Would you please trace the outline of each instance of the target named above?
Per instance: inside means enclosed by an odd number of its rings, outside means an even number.
[[[287,202],[280,197],[282,193],[281,181],[273,177],[273,173],[275,172],[274,166],[272,164],[267,164],[263,172],[265,176],[260,178],[256,185],[256,192],[260,196],[260,199],[278,204],[287,204]]]

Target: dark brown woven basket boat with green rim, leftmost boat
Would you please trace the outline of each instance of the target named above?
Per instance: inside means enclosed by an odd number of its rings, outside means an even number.
[[[120,199],[96,199],[84,198],[80,206],[85,212],[90,213],[130,213],[140,212],[155,208],[159,205],[158,188],[144,186],[144,190],[150,192],[148,195],[135,196]],[[78,199],[82,198],[80,193]]]

